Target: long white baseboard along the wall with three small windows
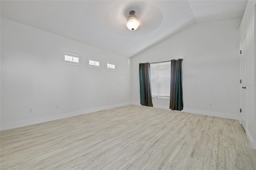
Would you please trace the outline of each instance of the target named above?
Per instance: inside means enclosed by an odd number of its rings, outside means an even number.
[[[38,119],[30,119],[30,120],[27,120],[27,121],[7,123],[7,124],[1,125],[0,129],[1,130],[7,130],[7,129],[11,129],[11,128],[24,127],[24,126],[27,126],[27,125],[34,125],[36,123],[54,121],[54,120],[57,120],[57,119],[63,119],[63,118],[67,118],[67,117],[83,115],[83,114],[86,114],[86,113],[92,113],[92,112],[102,111],[102,110],[106,110],[106,109],[113,109],[113,108],[116,108],[116,107],[121,107],[121,106],[126,106],[126,105],[131,105],[131,104],[132,104],[131,102],[120,103],[120,104],[117,104],[117,105],[97,107],[97,108],[94,108],[94,109],[86,109],[86,110],[83,110],[83,111],[64,113],[64,114],[60,114],[60,115],[53,115],[53,116],[42,117],[42,118],[38,118]]]

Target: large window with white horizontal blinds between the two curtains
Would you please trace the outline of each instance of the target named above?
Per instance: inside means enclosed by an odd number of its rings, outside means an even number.
[[[170,99],[171,61],[150,64],[152,97]]]

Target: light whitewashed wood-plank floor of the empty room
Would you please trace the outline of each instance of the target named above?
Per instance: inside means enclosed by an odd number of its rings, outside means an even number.
[[[238,121],[134,105],[0,137],[1,169],[256,169]]]

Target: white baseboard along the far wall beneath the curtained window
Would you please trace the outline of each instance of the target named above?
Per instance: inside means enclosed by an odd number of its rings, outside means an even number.
[[[141,106],[140,103],[136,103],[136,102],[132,102],[132,105]],[[158,109],[167,109],[167,110],[169,110],[169,107],[168,107],[168,106],[162,106],[162,105],[154,105],[154,108],[158,108]],[[182,112],[194,113],[194,114],[198,114],[198,115],[207,115],[207,116],[223,117],[223,118],[238,120],[238,115],[230,115],[230,114],[226,114],[226,113],[217,113],[217,112],[209,112],[209,111],[200,111],[200,110],[194,110],[194,109],[183,109]]]

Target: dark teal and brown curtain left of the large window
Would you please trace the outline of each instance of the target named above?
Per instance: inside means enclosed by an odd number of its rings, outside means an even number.
[[[150,83],[150,64],[140,63],[139,65],[139,78],[140,78],[140,104],[142,106],[151,106],[151,83]]]

